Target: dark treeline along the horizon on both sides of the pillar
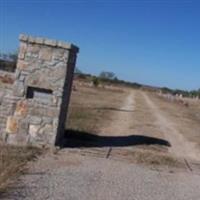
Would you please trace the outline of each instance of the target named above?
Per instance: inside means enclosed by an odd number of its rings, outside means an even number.
[[[17,54],[16,53],[10,53],[10,54],[0,54],[0,70],[8,71],[8,72],[15,72],[17,65]],[[180,90],[180,89],[170,89],[168,87],[153,87],[148,86],[136,82],[130,82],[125,80],[120,80],[117,78],[115,73],[103,71],[98,76],[94,76],[91,74],[83,73],[80,69],[75,69],[75,74],[77,77],[81,79],[90,79],[90,81],[93,82],[95,86],[98,86],[100,83],[106,83],[106,84],[118,84],[118,85],[124,85],[132,88],[142,88],[147,90],[154,90],[154,91],[162,91],[164,94],[171,94],[171,95],[182,95],[183,97],[191,97],[200,98],[200,89],[198,90]]]

